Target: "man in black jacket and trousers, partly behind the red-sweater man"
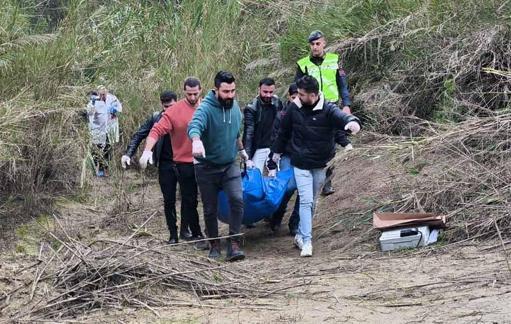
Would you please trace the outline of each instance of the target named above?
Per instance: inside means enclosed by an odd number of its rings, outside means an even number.
[[[131,164],[131,159],[135,155],[138,146],[149,135],[151,128],[156,124],[163,112],[169,109],[177,101],[177,96],[172,91],[163,91],[160,95],[162,110],[152,113],[146,122],[133,134],[131,141],[126,149],[126,154],[121,158],[123,168]],[[153,151],[153,161],[158,166],[158,181],[160,183],[161,192],[163,194],[163,206],[165,210],[165,219],[170,232],[169,243],[178,242],[177,226],[176,226],[176,188],[177,175],[175,174],[172,161],[172,146],[170,144],[170,136],[165,135],[156,143]],[[191,238],[188,228],[183,228],[181,223],[181,238]]]

